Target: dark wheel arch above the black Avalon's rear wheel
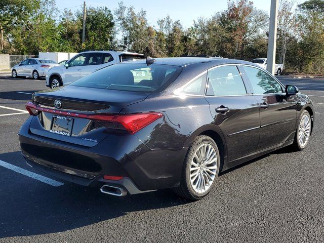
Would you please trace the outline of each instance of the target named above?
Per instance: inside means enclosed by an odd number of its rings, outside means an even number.
[[[223,136],[222,131],[217,125],[214,124],[209,124],[205,125],[203,127],[198,128],[195,132],[191,134],[191,136],[188,138],[188,140],[185,143],[185,147],[189,147],[192,141],[195,139],[195,137],[199,135],[206,135],[211,137],[215,143],[218,146],[219,153],[220,153],[220,158],[221,158],[221,163],[220,163],[220,172],[223,171],[224,164],[226,163],[226,158],[227,158],[227,146],[226,146],[226,141]]]

